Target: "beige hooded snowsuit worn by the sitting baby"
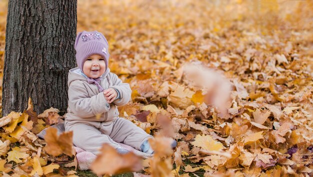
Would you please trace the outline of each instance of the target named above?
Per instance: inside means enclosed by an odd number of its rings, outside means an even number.
[[[86,77],[73,72],[77,68],[68,72],[68,107],[65,115],[65,131],[73,131],[73,144],[94,154],[99,153],[103,143],[117,148],[120,147],[117,142],[121,142],[141,150],[142,142],[152,136],[131,121],[118,117],[116,107],[129,101],[129,84],[122,83],[107,68],[100,85],[104,89],[115,88],[120,95],[120,99],[109,104],[94,83],[89,84]]]

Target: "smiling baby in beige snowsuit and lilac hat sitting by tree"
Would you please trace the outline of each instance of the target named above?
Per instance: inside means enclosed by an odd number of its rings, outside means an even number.
[[[82,31],[78,33],[74,47],[78,67],[68,72],[65,115],[65,130],[73,131],[73,144],[93,154],[99,153],[103,143],[110,144],[119,153],[127,153],[117,142],[153,153],[147,141],[153,136],[131,121],[118,117],[116,106],[129,101],[131,89],[107,67],[106,38],[98,31]]]

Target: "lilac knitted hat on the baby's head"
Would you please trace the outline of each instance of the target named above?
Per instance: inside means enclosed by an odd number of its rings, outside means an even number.
[[[99,54],[105,60],[105,70],[108,64],[108,42],[101,32],[82,31],[78,32],[75,40],[76,61],[78,67],[83,68],[83,63],[92,54]]]

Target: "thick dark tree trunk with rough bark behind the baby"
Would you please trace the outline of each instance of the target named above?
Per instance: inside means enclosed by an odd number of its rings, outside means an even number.
[[[75,67],[77,0],[9,0],[2,115],[67,107],[67,73]]]

